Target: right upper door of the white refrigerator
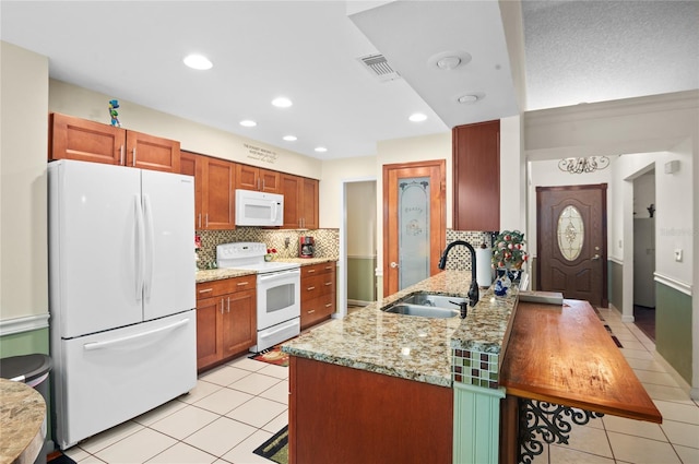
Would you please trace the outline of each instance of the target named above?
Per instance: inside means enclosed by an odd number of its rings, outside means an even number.
[[[196,306],[194,178],[143,170],[143,319]]]

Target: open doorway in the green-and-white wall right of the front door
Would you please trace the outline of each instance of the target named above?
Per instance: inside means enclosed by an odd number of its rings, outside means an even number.
[[[633,179],[633,323],[655,341],[655,169]]]

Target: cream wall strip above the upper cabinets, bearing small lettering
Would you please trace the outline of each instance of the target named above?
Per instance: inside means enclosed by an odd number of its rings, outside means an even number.
[[[316,158],[122,100],[118,95],[105,95],[61,81],[50,81],[50,111],[109,123],[108,102],[114,98],[119,100],[119,122],[123,129],[177,140],[182,150],[320,179],[320,163]],[[276,158],[271,163],[256,159],[246,144],[272,151]]]

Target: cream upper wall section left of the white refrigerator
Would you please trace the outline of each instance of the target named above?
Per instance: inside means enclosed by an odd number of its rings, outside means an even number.
[[[0,320],[48,313],[48,59],[0,43]]]

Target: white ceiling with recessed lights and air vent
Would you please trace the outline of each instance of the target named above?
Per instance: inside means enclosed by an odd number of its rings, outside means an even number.
[[[699,88],[699,1],[525,0],[526,106],[518,108],[519,58],[508,53],[518,35],[508,29],[506,43],[500,7],[2,0],[0,37],[49,57],[54,79],[321,159],[520,110]],[[439,70],[445,51],[471,60]],[[214,68],[186,68],[190,52]],[[377,52],[401,79],[380,82],[357,61]],[[463,94],[481,99],[458,104]],[[294,106],[272,107],[279,95]],[[410,122],[416,111],[427,120]],[[120,119],[128,127],[128,114]]]

